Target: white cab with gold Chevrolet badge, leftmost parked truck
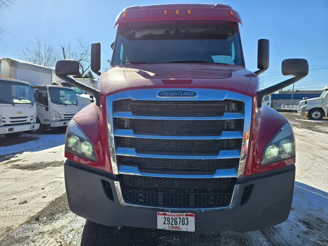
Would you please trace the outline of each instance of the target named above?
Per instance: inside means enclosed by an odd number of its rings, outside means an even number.
[[[18,138],[24,131],[37,130],[36,105],[31,86],[0,76],[0,134]]]

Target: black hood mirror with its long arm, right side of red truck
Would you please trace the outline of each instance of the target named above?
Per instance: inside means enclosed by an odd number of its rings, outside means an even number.
[[[261,107],[263,97],[271,95],[277,90],[288,87],[307,76],[309,73],[309,63],[306,59],[285,59],[281,63],[281,71],[283,75],[294,77],[260,90],[258,92],[258,107]]]

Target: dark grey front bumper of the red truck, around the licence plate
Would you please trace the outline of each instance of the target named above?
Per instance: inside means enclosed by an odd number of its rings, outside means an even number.
[[[105,226],[157,228],[157,211],[170,211],[122,206],[114,186],[119,176],[86,168],[68,159],[64,172],[70,210],[92,222]],[[248,200],[241,205],[243,192],[240,192],[232,209],[188,211],[195,213],[195,230],[246,232],[285,221],[292,205],[294,179],[295,165],[290,165],[275,173],[239,180],[240,191],[252,185]],[[113,195],[105,192],[102,180],[108,181]]]

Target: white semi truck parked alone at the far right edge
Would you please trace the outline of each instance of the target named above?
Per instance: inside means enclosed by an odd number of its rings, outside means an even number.
[[[298,114],[311,120],[321,120],[323,117],[328,117],[328,86],[324,87],[323,90],[320,97],[303,98],[305,100],[299,102]]]

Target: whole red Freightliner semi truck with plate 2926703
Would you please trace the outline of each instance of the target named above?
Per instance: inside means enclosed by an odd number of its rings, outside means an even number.
[[[96,98],[69,123],[65,183],[72,212],[106,226],[182,231],[252,231],[289,215],[295,141],[288,121],[262,99],[308,74],[259,90],[269,41],[258,42],[258,68],[245,68],[237,11],[223,4],[132,6],[116,18],[111,68],[91,69],[99,90],[56,74]]]

